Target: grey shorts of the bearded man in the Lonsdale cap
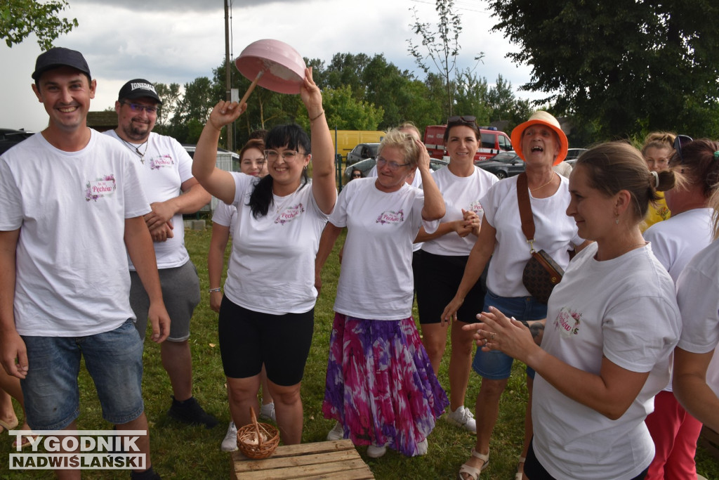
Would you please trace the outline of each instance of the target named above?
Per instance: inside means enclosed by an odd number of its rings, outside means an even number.
[[[200,279],[192,261],[173,268],[160,268],[162,301],[170,315],[170,336],[168,342],[184,342],[190,338],[190,320],[195,307],[200,303]],[[130,271],[130,307],[137,317],[135,328],[144,341],[147,332],[147,312],[150,297],[136,271]]]

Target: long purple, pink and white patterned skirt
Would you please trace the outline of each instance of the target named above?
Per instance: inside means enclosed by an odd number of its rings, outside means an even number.
[[[412,317],[334,314],[322,412],[345,438],[415,456],[448,405]]]

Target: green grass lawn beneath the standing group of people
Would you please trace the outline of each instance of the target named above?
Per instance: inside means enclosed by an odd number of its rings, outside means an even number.
[[[143,379],[145,409],[150,421],[152,464],[164,479],[226,479],[229,476],[229,454],[219,449],[224,438],[229,412],[226,402],[225,379],[217,339],[217,315],[209,308],[206,255],[210,228],[204,232],[186,231],[186,243],[201,279],[202,302],[195,310],[191,335],[194,384],[193,394],[203,407],[219,418],[212,430],[188,427],[170,420],[165,412],[170,407],[170,382],[160,363],[157,345],[145,343],[145,376]],[[338,245],[342,243],[342,237]],[[337,250],[330,256],[322,274],[323,287],[315,309],[315,334],[302,384],[304,404],[303,442],[319,442],[334,425],[321,413],[324,398],[324,376],[327,348],[334,313],[334,292],[339,278]],[[416,311],[415,311],[416,314]],[[449,351],[442,362],[440,381],[448,388],[447,363]],[[467,393],[467,406],[474,410],[474,399],[480,378],[472,373]],[[78,428],[109,428],[102,420],[99,402],[88,373],[81,371],[81,416]],[[122,394],[122,392],[118,392]],[[516,457],[520,453],[523,435],[523,412],[526,402],[523,366],[516,364],[502,398],[500,417],[491,443],[491,463],[482,479],[513,479]],[[19,412],[19,409],[17,409]],[[0,437],[0,479],[50,479],[49,471],[8,471],[7,459],[12,440]],[[423,457],[406,458],[389,450],[383,458],[371,459],[366,448],[360,447],[362,458],[377,479],[452,479],[457,478],[459,466],[467,460],[475,437],[452,427],[440,419],[429,437],[429,453]],[[705,450],[697,453],[697,470],[707,479],[719,479],[719,466]],[[127,479],[127,471],[86,471],[86,479]]]

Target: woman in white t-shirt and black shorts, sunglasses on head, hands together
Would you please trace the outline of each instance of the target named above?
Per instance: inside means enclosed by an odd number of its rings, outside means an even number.
[[[432,173],[444,199],[446,213],[435,232],[429,234],[421,228],[416,238],[417,242],[424,242],[417,275],[422,343],[437,374],[449,326],[449,322],[442,319],[442,312],[459,287],[467,258],[480,234],[483,215],[480,199],[499,181],[492,173],[475,166],[475,153],[481,138],[475,117],[449,117],[444,132],[449,165]],[[462,330],[462,326],[477,321],[485,292],[485,281],[480,279],[459,308],[450,333],[450,405],[445,418],[470,433],[476,432],[475,419],[470,409],[464,407],[464,397],[470,380],[473,341],[472,333]]]

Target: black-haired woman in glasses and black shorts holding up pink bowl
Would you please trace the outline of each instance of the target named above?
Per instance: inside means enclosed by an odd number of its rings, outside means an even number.
[[[336,201],[334,153],[322,96],[306,70],[300,96],[312,140],[296,124],[267,132],[267,176],[226,172],[215,166],[224,125],[247,104],[220,101],[197,144],[193,175],[207,191],[237,207],[219,339],[235,425],[257,411],[262,364],[285,445],[302,438],[300,384],[314,324],[314,258],[319,237]],[[307,176],[312,162],[313,178]]]

